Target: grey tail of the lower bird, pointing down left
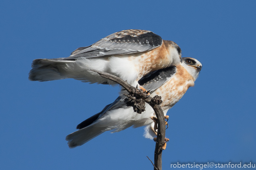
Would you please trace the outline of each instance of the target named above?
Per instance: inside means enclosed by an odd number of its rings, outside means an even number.
[[[105,131],[105,127],[88,126],[67,135],[66,140],[68,141],[69,148],[75,148],[77,146],[83,145],[84,143],[104,133]]]

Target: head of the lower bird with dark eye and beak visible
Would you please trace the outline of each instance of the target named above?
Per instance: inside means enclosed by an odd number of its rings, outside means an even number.
[[[193,59],[190,57],[182,57],[183,63],[182,65],[185,66],[189,74],[193,76],[193,78],[196,80],[196,78],[199,75],[199,72],[202,70],[202,64],[197,59]]]

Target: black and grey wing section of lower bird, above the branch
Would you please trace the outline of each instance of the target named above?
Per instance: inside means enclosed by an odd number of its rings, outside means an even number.
[[[152,71],[143,76],[139,81],[139,85],[143,86],[147,91],[153,92],[161,85],[170,80],[177,71],[176,66],[167,67],[164,69]]]

